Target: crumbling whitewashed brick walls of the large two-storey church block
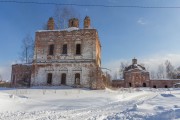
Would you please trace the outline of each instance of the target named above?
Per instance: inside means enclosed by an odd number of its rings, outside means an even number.
[[[62,52],[64,44],[67,44],[67,54]],[[81,45],[79,55],[76,55],[77,44]],[[48,54],[50,45],[54,45],[53,55]],[[47,85],[48,74],[51,74],[51,85],[61,85],[62,76],[65,75],[66,85],[102,89],[100,70],[90,76],[92,71],[100,67],[101,45],[96,29],[69,28],[36,32],[32,85]],[[80,75],[79,85],[75,82],[76,73]]]

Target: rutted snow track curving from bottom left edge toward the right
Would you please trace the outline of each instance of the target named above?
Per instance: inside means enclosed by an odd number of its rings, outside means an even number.
[[[144,101],[153,99],[157,94],[145,92],[143,94],[124,98],[124,100],[105,104],[103,106],[92,106],[88,108],[64,110],[64,111],[34,111],[34,112],[14,112],[0,113],[0,120],[59,120],[59,119],[108,119],[108,116],[114,116],[117,113],[126,112],[135,109],[136,105]],[[126,100],[127,99],[127,100]]]

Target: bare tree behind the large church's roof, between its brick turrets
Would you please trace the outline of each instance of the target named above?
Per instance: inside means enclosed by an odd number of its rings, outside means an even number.
[[[64,29],[68,27],[68,20],[70,18],[80,19],[78,12],[72,7],[59,7],[56,6],[54,11],[54,20],[57,29]]]

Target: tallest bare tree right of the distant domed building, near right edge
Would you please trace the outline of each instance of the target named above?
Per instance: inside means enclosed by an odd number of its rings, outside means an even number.
[[[171,62],[166,60],[165,61],[165,67],[166,67],[166,77],[169,79],[173,79],[174,67],[172,66]]]

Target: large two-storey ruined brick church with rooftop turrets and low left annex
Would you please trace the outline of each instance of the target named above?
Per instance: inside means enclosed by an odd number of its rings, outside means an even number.
[[[12,85],[29,80],[31,86],[68,85],[103,89],[101,43],[90,22],[86,16],[81,29],[79,20],[72,18],[67,29],[55,30],[54,20],[49,18],[48,29],[35,34],[32,65],[12,66]]]

